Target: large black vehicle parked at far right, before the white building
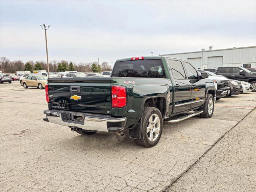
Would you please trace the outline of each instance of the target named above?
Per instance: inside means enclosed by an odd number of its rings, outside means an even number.
[[[256,72],[251,72],[243,67],[218,67],[217,75],[223,75],[233,80],[246,81],[252,84],[252,91],[256,91]]]

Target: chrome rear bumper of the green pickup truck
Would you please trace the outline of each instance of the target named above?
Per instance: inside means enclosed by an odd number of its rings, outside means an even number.
[[[44,110],[44,114],[46,114],[48,122],[89,131],[116,132],[123,130],[126,124],[126,117],[115,118],[108,115],[62,110]],[[82,120],[74,120],[74,116],[81,116]]]

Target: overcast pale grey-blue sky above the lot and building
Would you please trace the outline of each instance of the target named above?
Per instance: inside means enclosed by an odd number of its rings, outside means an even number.
[[[76,63],[256,45],[256,1],[0,1],[0,56]]]

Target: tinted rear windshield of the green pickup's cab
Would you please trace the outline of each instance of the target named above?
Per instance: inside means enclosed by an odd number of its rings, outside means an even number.
[[[166,78],[160,59],[116,62],[112,77]]]

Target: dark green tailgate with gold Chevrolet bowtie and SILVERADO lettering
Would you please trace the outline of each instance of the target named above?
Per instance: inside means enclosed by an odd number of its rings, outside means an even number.
[[[48,78],[49,108],[111,114],[110,78]]]

